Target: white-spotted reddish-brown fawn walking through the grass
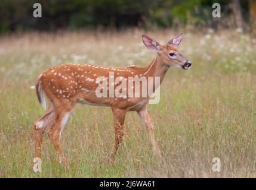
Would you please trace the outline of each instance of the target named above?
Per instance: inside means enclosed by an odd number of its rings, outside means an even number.
[[[157,53],[156,58],[148,66],[127,66],[127,67],[110,67],[101,65],[88,64],[63,64],[57,65],[42,72],[36,81],[36,93],[42,106],[46,107],[44,94],[48,99],[48,108],[41,118],[33,124],[35,137],[35,157],[41,157],[41,143],[44,131],[48,129],[48,137],[58,153],[60,162],[67,166],[66,157],[61,150],[60,136],[63,131],[70,112],[76,103],[83,103],[95,106],[109,106],[112,108],[113,123],[115,128],[115,143],[112,149],[112,159],[115,157],[118,145],[124,137],[124,121],[128,111],[136,111],[142,119],[149,132],[150,141],[153,150],[161,156],[158,144],[153,134],[153,125],[147,112],[147,103],[150,94],[146,97],[132,97],[125,92],[123,96],[110,96],[110,87],[118,88],[120,83],[116,82],[117,77],[127,80],[129,77],[153,77],[159,78],[159,85],[165,77],[165,73],[170,66],[188,69],[191,62],[188,61],[177,49],[182,39],[182,34],[169,40],[166,45],[160,45],[156,40],[148,36],[142,36],[144,44]],[[109,75],[112,72],[114,75]],[[107,96],[97,96],[98,83],[100,77],[109,84],[106,87]],[[115,82],[111,82],[115,81]],[[121,80],[119,80],[121,81]],[[132,82],[132,85],[134,83]],[[125,86],[125,88],[128,88]],[[132,93],[135,88],[132,88]],[[158,85],[153,85],[153,91]],[[138,89],[138,88],[137,88]],[[104,89],[101,88],[100,93]],[[120,89],[119,89],[120,90]],[[118,90],[118,91],[119,91]],[[122,88],[122,91],[126,90]],[[138,89],[141,91],[141,87]]]

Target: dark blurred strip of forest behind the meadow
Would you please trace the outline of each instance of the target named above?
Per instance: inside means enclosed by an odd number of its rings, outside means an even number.
[[[42,5],[34,18],[33,4]],[[221,5],[221,19],[212,17],[212,4]],[[186,27],[256,31],[255,0],[1,0],[0,33],[60,29],[126,29]]]

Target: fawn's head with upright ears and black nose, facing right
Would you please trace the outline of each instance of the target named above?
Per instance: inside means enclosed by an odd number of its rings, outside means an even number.
[[[182,35],[182,33],[178,34],[169,40],[166,45],[161,45],[156,42],[156,40],[146,35],[142,35],[142,40],[147,48],[155,50],[158,53],[158,57],[165,65],[189,69],[192,65],[191,62],[177,49],[181,42]]]

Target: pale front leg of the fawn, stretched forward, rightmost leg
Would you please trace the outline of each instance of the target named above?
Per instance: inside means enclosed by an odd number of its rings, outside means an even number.
[[[143,121],[144,126],[146,126],[147,131],[149,132],[149,138],[152,143],[153,151],[161,157],[161,153],[158,147],[158,143],[156,143],[156,138],[153,132],[152,121],[149,116],[149,112],[147,111],[147,106],[144,106],[142,109],[137,111],[141,120]]]

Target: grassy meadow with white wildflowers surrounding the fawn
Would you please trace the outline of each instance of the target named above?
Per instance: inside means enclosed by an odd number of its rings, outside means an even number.
[[[40,72],[61,63],[147,65],[155,57],[144,31],[29,33],[0,38],[1,178],[256,178],[256,43],[236,31],[184,33],[180,50],[188,71],[169,69],[161,102],[149,105],[163,159],[152,154],[137,113],[129,112],[115,163],[112,113],[77,105],[61,137],[70,170],[58,164],[47,135],[42,172],[33,172],[32,124],[43,113],[35,89]],[[166,43],[178,32],[147,32]],[[212,172],[219,157],[221,172]]]

